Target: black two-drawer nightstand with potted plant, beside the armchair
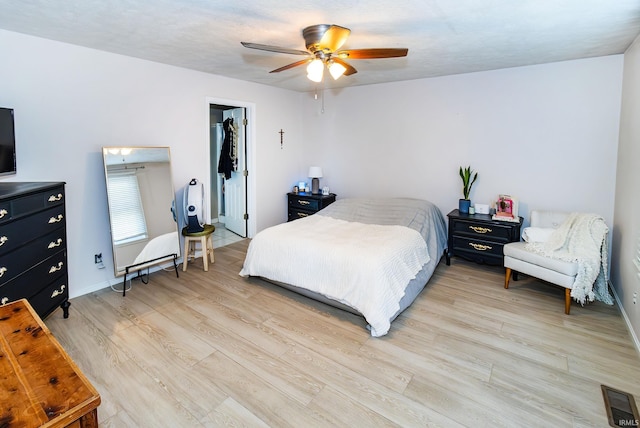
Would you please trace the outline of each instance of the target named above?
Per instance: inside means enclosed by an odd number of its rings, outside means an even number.
[[[447,265],[451,256],[488,265],[502,266],[504,244],[520,241],[519,222],[493,220],[489,214],[461,214],[453,210],[449,218],[449,240],[446,254]]]

